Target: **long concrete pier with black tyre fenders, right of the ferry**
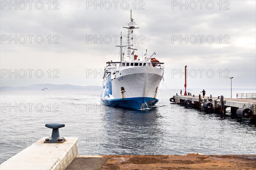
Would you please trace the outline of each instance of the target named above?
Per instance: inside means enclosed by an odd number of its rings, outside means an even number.
[[[248,108],[252,112],[251,119],[256,118],[256,99],[244,99],[244,98],[224,98],[221,101],[221,96],[200,98],[199,96],[192,95],[174,95],[174,102],[177,104],[191,104],[193,107],[200,109],[201,104],[211,103],[215,112],[219,112],[221,115],[225,114],[225,109],[231,107],[231,113],[236,113],[239,108]],[[173,101],[173,100],[172,100]],[[184,103],[186,101],[186,103]],[[189,101],[189,103],[188,103]]]

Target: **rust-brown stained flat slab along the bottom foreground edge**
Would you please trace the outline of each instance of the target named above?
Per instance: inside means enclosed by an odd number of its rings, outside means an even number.
[[[106,162],[103,164],[104,161]],[[66,170],[72,168],[73,170],[255,170],[256,155],[188,154],[186,156],[98,156],[93,158],[79,156]]]

